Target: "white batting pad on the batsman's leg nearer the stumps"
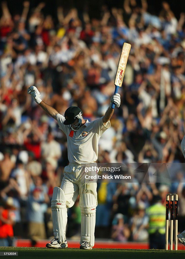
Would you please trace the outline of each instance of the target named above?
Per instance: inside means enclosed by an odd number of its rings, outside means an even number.
[[[81,209],[81,240],[94,246],[94,231],[96,222],[96,198],[93,194],[87,193],[80,196]]]

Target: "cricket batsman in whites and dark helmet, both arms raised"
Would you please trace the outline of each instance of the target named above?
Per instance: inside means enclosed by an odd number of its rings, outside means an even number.
[[[110,118],[115,107],[120,106],[120,95],[116,93],[111,97],[111,103],[105,115],[89,122],[82,117],[79,107],[71,106],[64,116],[40,99],[40,92],[35,86],[28,88],[35,102],[51,117],[57,120],[59,128],[67,136],[67,151],[69,165],[64,168],[64,177],[61,186],[53,189],[51,200],[54,239],[46,244],[47,248],[67,248],[66,224],[67,208],[74,205],[80,195],[81,209],[81,240],[80,249],[92,249],[94,246],[94,231],[97,206],[96,183],[85,180],[84,169],[90,167],[98,158],[98,141],[110,127]]]

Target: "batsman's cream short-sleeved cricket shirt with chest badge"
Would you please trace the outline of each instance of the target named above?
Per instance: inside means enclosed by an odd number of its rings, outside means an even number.
[[[64,125],[65,118],[61,114],[56,116],[59,128],[67,136],[68,160],[73,164],[94,163],[98,158],[98,142],[99,138],[111,123],[108,121],[103,124],[103,117],[86,123],[74,131],[73,137],[69,136],[71,130]]]

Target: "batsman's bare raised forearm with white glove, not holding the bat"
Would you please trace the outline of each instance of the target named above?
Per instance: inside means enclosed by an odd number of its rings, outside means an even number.
[[[34,101],[37,104],[39,104],[45,112],[47,112],[51,117],[56,119],[58,112],[53,107],[51,107],[47,103],[44,103],[40,99],[40,92],[38,91],[38,89],[35,86],[32,85],[28,88],[28,94],[33,97]]]

